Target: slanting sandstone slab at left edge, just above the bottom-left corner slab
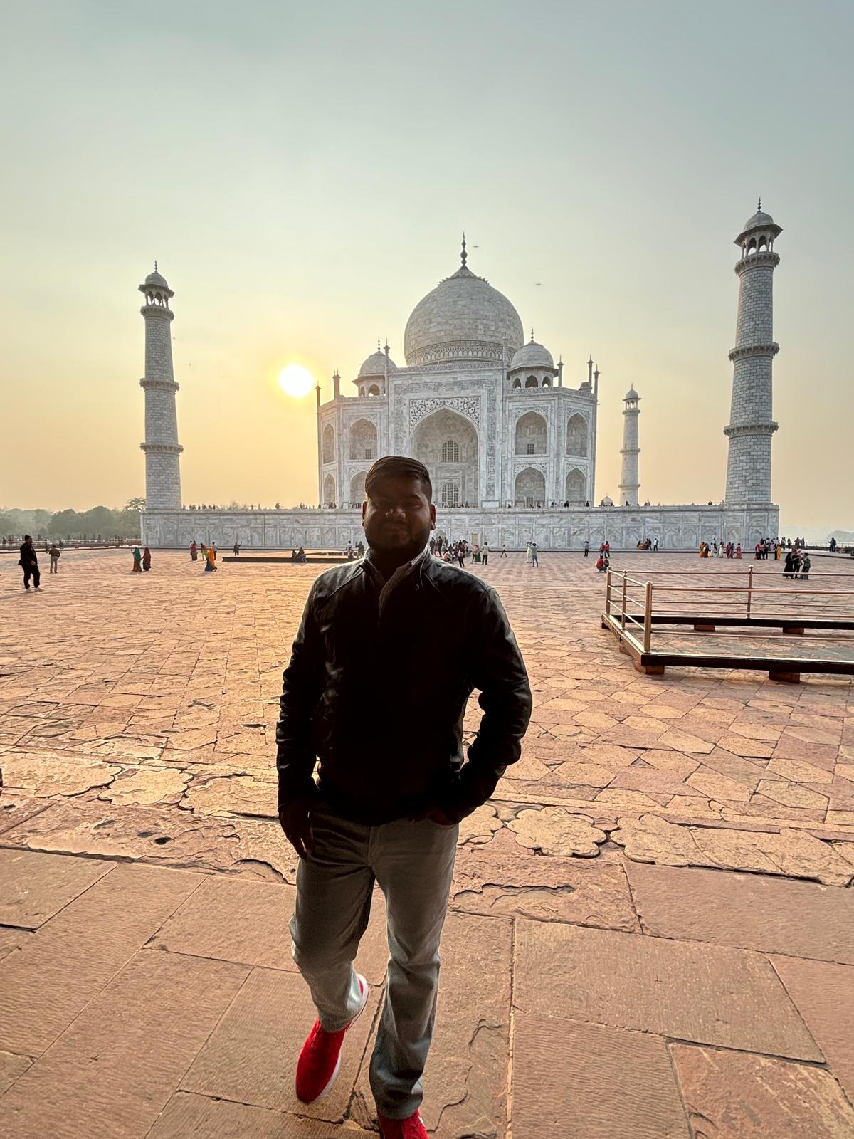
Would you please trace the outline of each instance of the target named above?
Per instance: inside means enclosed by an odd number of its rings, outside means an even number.
[[[117,866],[3,961],[0,1047],[38,1056],[198,886],[202,876]]]

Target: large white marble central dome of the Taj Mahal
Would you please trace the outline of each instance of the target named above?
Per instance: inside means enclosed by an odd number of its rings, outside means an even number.
[[[500,363],[522,347],[519,314],[507,297],[465,264],[419,301],[407,321],[407,364],[463,360]]]

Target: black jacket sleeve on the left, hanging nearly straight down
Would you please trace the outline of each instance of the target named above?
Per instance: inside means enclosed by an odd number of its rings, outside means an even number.
[[[313,590],[305,603],[290,661],[281,679],[279,720],[276,724],[280,808],[315,792],[311,721],[323,691],[323,647],[314,616]]]

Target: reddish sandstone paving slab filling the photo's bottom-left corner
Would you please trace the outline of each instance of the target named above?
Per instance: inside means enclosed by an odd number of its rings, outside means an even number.
[[[145,1136],[247,973],[224,961],[138,953],[0,1099],[5,1133]]]

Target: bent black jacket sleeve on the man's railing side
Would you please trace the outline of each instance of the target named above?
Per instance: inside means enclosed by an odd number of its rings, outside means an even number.
[[[451,785],[445,813],[459,821],[485,803],[504,769],[522,753],[531,719],[532,698],[525,662],[510,622],[494,589],[479,603],[470,625],[475,646],[471,681],[481,690],[483,718],[468,749],[468,762]]]

